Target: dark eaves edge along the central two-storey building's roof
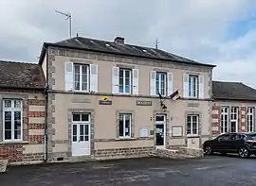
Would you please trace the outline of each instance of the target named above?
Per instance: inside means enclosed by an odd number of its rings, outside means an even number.
[[[116,54],[116,55],[121,55],[121,56],[137,57],[137,58],[143,58],[143,59],[156,59],[156,60],[164,60],[164,61],[174,61],[176,63],[190,64],[190,65],[195,65],[195,66],[206,66],[206,67],[210,67],[210,68],[214,68],[214,67],[217,66],[217,65],[213,65],[213,64],[205,64],[205,63],[199,63],[199,62],[198,63],[190,63],[190,62],[185,62],[185,61],[180,61],[180,60],[170,60],[170,59],[160,59],[160,58],[153,58],[153,57],[142,57],[142,56],[139,56],[139,55],[120,54],[118,52],[110,52],[110,51],[96,50],[96,49],[87,49],[87,48],[82,48],[82,47],[77,47],[77,46],[67,46],[67,45],[64,45],[64,44],[51,43],[51,42],[45,42],[44,43],[42,52],[43,52],[44,49],[45,49],[45,51],[44,51],[44,53],[41,53],[39,64],[42,64],[42,62],[44,60],[44,56],[46,54],[46,48],[48,46],[63,47],[63,48],[69,48],[69,49],[75,49],[75,50],[83,50],[83,51],[101,52],[101,53],[107,53],[107,54]]]

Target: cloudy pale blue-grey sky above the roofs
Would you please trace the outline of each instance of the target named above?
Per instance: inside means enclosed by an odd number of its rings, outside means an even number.
[[[37,62],[43,42],[73,35],[159,48],[216,64],[216,80],[256,88],[255,0],[1,0],[0,59]]]

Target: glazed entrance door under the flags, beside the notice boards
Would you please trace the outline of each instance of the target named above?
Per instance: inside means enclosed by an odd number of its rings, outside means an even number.
[[[166,144],[166,116],[157,114],[155,116],[155,147],[165,148]]]

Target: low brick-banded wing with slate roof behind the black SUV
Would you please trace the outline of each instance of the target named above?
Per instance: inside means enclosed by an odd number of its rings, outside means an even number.
[[[256,90],[241,82],[212,82],[212,136],[255,132]]]

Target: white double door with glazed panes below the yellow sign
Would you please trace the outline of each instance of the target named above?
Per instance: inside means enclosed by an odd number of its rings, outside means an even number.
[[[77,121],[80,120],[80,121]],[[89,114],[73,114],[72,156],[90,155],[90,117]]]

